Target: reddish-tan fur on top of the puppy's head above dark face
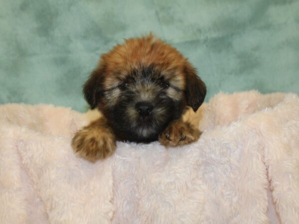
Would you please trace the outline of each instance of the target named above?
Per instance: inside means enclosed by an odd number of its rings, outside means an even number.
[[[179,89],[185,88],[183,74],[186,59],[169,44],[149,35],[142,38],[131,38],[123,45],[117,45],[107,54],[103,54],[99,67],[105,66],[104,88],[117,86],[117,81],[125,78],[141,64],[155,66]]]

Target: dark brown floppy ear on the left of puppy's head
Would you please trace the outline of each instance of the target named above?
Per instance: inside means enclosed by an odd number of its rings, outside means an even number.
[[[105,66],[100,64],[100,66],[95,69],[87,82],[83,86],[83,94],[87,103],[90,105],[91,109],[95,109],[101,97],[103,96],[102,82],[104,79]]]

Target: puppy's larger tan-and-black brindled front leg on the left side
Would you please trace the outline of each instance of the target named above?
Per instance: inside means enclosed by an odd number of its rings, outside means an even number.
[[[105,118],[101,117],[75,134],[72,147],[79,156],[96,161],[114,153],[116,139]]]

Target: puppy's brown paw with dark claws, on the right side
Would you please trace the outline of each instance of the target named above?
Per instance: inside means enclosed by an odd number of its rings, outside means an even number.
[[[182,120],[173,120],[159,135],[159,142],[164,146],[186,145],[197,141],[201,132]]]

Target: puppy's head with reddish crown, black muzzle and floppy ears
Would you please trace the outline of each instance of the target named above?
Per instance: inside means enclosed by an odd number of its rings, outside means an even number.
[[[103,54],[83,92],[120,138],[149,142],[186,106],[196,111],[206,87],[186,58],[150,34]]]

